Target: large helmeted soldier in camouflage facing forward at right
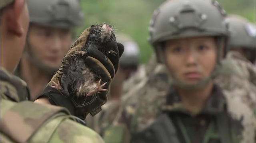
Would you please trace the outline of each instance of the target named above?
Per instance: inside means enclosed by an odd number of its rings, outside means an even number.
[[[168,0],[155,10],[150,43],[170,84],[158,90],[150,88],[158,85],[152,80],[134,92],[105,131],[106,143],[128,142],[129,136],[132,143],[255,142],[255,90],[253,97],[243,88],[249,84],[244,78],[228,90],[214,81],[227,52],[225,17],[210,0]]]

